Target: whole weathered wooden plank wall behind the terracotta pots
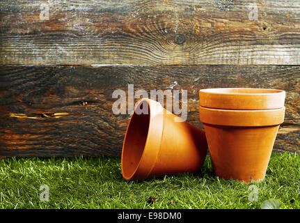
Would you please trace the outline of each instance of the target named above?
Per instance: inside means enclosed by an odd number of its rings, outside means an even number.
[[[120,155],[128,84],[187,90],[199,127],[199,89],[283,89],[300,152],[300,1],[0,2],[0,156]]]

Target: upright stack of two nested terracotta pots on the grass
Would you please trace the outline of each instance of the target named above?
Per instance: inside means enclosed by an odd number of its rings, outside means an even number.
[[[284,121],[285,91],[203,89],[200,121],[216,175],[263,180],[279,125]]]

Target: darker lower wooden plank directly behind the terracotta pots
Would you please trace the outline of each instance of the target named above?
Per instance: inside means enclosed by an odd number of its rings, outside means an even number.
[[[113,114],[116,89],[255,87],[287,92],[274,148],[300,152],[299,66],[0,66],[0,156],[120,155],[129,115]],[[137,100],[137,99],[136,99]]]

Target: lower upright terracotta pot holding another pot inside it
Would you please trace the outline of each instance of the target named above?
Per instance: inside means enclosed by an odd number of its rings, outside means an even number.
[[[247,183],[263,180],[285,107],[252,111],[200,107],[199,114],[216,175]]]

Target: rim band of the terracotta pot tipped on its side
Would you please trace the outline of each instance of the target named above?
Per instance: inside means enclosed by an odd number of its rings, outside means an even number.
[[[127,139],[127,133],[128,130],[130,128],[130,123],[132,123],[132,119],[134,118],[134,115],[136,114],[136,108],[139,107],[141,105],[142,102],[146,102],[148,104],[148,108],[149,108],[149,127],[148,127],[148,133],[147,133],[147,138],[145,141],[145,145],[143,147],[143,153],[141,154],[139,163],[136,164],[136,168],[134,169],[134,171],[132,172],[132,174],[130,174],[129,176],[125,176],[125,171],[124,171],[124,167],[123,167],[123,162],[124,162],[124,156],[125,156],[125,144],[126,144],[126,139]],[[155,110],[157,109],[157,110]],[[145,173],[145,176],[143,179],[148,178],[149,174],[151,173],[153,167],[155,166],[155,162],[157,160],[157,155],[159,153],[159,149],[160,149],[160,144],[161,144],[161,137],[162,137],[162,132],[163,132],[163,126],[164,126],[164,116],[162,114],[159,114],[159,112],[163,111],[163,107],[161,107],[159,102],[156,101],[152,101],[148,98],[142,98],[141,100],[139,100],[139,103],[137,103],[136,107],[134,108],[134,113],[132,114],[132,116],[130,117],[129,120],[129,124],[127,125],[127,129],[126,129],[126,133],[125,133],[125,139],[123,141],[123,148],[122,148],[122,155],[121,155],[121,169],[122,169],[122,174],[123,174],[123,178],[125,178],[125,180],[131,180],[132,178],[134,178],[134,176],[136,175],[137,171],[139,170],[139,168],[141,167],[141,165],[143,165],[144,169],[147,169],[147,173]],[[139,114],[136,114],[139,115]],[[153,134],[153,132],[156,132],[156,134]],[[155,138],[155,140],[150,139],[151,136],[157,136],[157,132],[159,134],[159,139]],[[155,144],[157,144],[155,151],[153,151],[151,148],[155,148],[155,146],[148,146],[149,145],[149,141],[152,142],[152,144],[155,142]],[[145,159],[145,157],[152,157],[152,159]],[[143,180],[141,179],[141,180]]]

